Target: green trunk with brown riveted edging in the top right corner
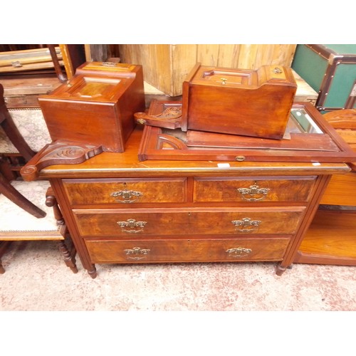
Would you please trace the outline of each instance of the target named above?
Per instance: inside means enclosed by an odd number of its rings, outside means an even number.
[[[318,92],[318,110],[356,108],[355,44],[300,44],[292,68]]]

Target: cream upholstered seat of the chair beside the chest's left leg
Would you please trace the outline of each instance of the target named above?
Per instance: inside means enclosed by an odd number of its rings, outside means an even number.
[[[53,208],[46,206],[49,182],[14,181],[11,185],[47,214],[44,218],[37,219],[0,194],[0,241],[64,239],[63,229],[66,229],[66,226],[58,226]]]

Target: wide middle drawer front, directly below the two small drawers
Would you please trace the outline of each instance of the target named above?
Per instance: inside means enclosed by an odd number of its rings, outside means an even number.
[[[74,209],[81,236],[294,234],[305,208]]]

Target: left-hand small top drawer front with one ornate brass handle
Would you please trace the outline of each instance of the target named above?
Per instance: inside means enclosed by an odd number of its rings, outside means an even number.
[[[70,204],[183,203],[187,179],[63,179]]]

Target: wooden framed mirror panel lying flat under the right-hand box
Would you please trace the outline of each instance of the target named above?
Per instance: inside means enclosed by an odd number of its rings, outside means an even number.
[[[152,100],[148,115],[181,103]],[[295,117],[301,117],[298,121]],[[301,123],[301,125],[300,125]],[[214,132],[182,132],[145,125],[138,158],[169,160],[268,161],[268,162],[352,162],[356,153],[342,140],[323,115],[310,103],[293,104],[283,140],[226,135]]]

